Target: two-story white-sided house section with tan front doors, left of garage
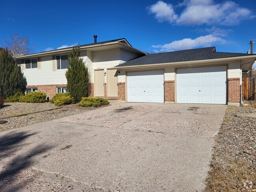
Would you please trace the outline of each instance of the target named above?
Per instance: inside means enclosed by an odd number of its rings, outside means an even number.
[[[52,98],[67,91],[65,72],[69,66],[68,54],[72,48],[63,48],[30,55],[14,55],[26,77],[26,93],[41,91]],[[80,46],[81,58],[88,66],[89,96],[117,99],[117,70],[111,68],[145,52],[133,48],[126,39],[96,42]]]

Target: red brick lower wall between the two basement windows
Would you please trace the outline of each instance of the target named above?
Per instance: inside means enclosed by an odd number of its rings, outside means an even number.
[[[41,91],[46,94],[46,97],[51,99],[56,93],[57,87],[67,87],[67,84],[58,84],[58,85],[27,85],[26,88],[37,88],[38,91]]]

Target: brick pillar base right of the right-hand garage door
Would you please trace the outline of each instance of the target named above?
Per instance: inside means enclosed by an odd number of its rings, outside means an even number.
[[[240,102],[240,78],[228,79],[228,102]]]

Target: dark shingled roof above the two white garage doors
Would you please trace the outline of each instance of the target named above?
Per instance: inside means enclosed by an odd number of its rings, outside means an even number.
[[[147,64],[159,64],[159,63],[173,63],[182,61],[197,61],[204,59],[218,59],[226,57],[239,57],[256,54],[241,54],[241,53],[226,53],[216,52],[215,47],[198,48],[181,50],[174,52],[165,52],[158,54],[148,54],[143,57],[135,58],[116,67],[120,66],[133,66],[133,65],[147,65]]]

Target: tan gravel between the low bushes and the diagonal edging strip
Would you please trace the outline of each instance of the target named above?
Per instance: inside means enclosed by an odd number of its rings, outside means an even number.
[[[56,106],[53,103],[4,103],[0,108],[0,118],[7,116],[15,116],[19,114],[32,113],[54,109]]]

